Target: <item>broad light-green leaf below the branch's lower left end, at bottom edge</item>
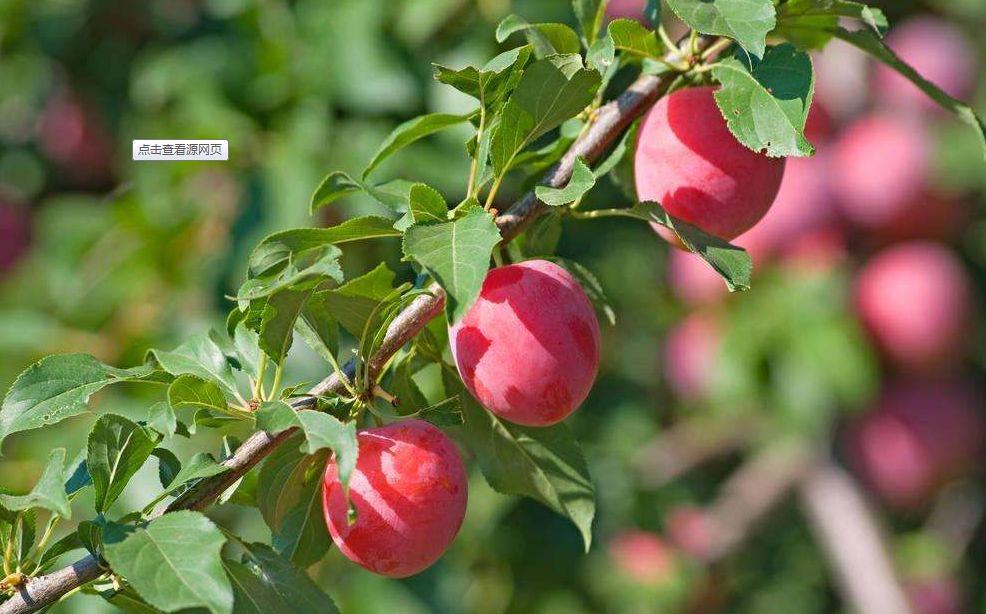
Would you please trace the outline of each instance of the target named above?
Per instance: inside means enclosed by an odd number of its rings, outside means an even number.
[[[104,533],[103,556],[152,606],[166,612],[233,609],[220,551],[226,538],[198,512],[180,511],[129,533]]]

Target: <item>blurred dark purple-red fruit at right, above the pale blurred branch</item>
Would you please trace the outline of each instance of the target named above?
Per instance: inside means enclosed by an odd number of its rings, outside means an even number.
[[[980,406],[976,391],[960,382],[897,382],[851,426],[850,460],[887,502],[918,507],[977,465],[986,434]]]

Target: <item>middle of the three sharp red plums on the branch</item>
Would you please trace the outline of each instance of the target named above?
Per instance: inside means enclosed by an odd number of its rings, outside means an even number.
[[[528,260],[491,270],[449,329],[469,392],[515,424],[549,426],[585,400],[599,367],[599,322],[565,269]]]

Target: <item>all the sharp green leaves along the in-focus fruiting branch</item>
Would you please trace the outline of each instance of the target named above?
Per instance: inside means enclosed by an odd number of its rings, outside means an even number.
[[[655,31],[641,22],[616,20],[603,28],[605,5],[603,0],[575,0],[580,32],[564,24],[508,17],[497,38],[522,41],[520,46],[482,67],[436,66],[436,79],[475,98],[477,109],[410,120],[386,139],[362,176],[329,174],[312,196],[312,213],[363,192],[386,215],[286,230],[264,239],[249,257],[247,281],[232,297],[235,308],[225,331],[193,338],[171,351],[151,350],[144,364],[129,369],[70,354],[46,358],[22,373],[0,410],[0,442],[85,412],[90,397],[110,384],[159,385],[166,392],[164,400],[138,418],[101,415],[77,459],[66,466],[65,451],[54,450],[30,493],[0,495],[8,582],[22,581],[19,574],[42,573],[60,555],[85,549],[113,570],[85,590],[121,607],[324,611],[330,600],[301,570],[321,559],[330,543],[319,505],[325,464],[333,455],[347,484],[356,465],[357,426],[410,415],[451,429],[475,454],[493,488],[531,497],[571,519],[588,547],[594,489],[572,432],[565,425],[513,425],[479,406],[449,361],[447,325],[475,301],[491,261],[554,257],[565,218],[620,216],[661,224],[733,289],[749,285],[750,261],[743,250],[674,219],[659,203],[580,209],[602,177],[616,180],[627,172],[633,129],[616,139],[601,161],[576,160],[566,185],[534,186],[547,213],[509,246],[502,244],[493,211],[505,182],[523,178],[525,185],[533,185],[558,162],[607,102],[619,71],[663,75],[672,88],[711,80],[720,86],[717,103],[740,142],[771,156],[811,155],[804,127],[814,76],[806,51],[832,37],[898,68],[981,134],[981,122],[968,107],[921,79],[883,45],[886,20],[866,5],[844,0],[668,0],[667,6],[693,29],[680,46],[660,26]],[[645,15],[656,25],[660,12],[660,3],[652,0]],[[842,28],[840,18],[856,20],[861,29]],[[700,43],[700,35],[719,38]],[[768,45],[768,39],[786,42]],[[461,202],[449,203],[424,183],[371,181],[389,156],[459,125],[474,129],[465,144],[472,163]],[[344,278],[342,246],[397,238],[415,272],[413,281],[397,283],[397,272],[384,264]],[[577,263],[558,261],[612,319],[598,280]],[[444,316],[408,347],[385,356],[384,373],[375,372],[374,360],[395,317],[413,301],[437,292],[430,281],[444,293]],[[304,392],[300,382],[285,385],[286,359],[296,335],[326,360],[342,382],[342,392],[316,395]],[[414,378],[433,365],[441,370],[443,391],[429,397]],[[399,406],[390,403],[393,395]],[[164,445],[206,428],[227,433],[217,456],[201,452],[182,462]],[[232,433],[241,431],[291,431],[259,468],[235,476],[218,497],[220,503],[259,508],[271,529],[272,547],[242,543],[200,512],[160,513],[166,499],[176,499],[172,505],[180,508],[184,493],[230,471],[222,461],[239,445]],[[152,456],[159,468],[160,495],[143,509],[119,510],[114,504]],[[71,501],[83,489],[93,491],[94,518],[49,546],[55,525],[71,517]],[[48,522],[35,541],[38,513],[47,514]],[[227,544],[242,551],[239,561],[224,556]]]

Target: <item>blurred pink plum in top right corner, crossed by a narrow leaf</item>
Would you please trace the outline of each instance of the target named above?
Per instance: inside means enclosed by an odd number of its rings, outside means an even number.
[[[953,97],[968,96],[974,83],[976,52],[961,30],[941,19],[904,21],[887,35],[887,45],[921,75]],[[936,109],[916,85],[879,64],[874,94],[884,104],[928,111]]]

